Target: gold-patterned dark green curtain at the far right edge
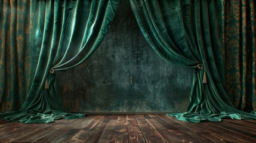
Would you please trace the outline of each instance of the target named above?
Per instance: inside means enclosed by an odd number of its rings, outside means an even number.
[[[236,108],[256,111],[256,2],[225,1],[226,89]]]

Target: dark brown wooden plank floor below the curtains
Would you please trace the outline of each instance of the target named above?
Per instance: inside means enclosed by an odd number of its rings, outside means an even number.
[[[165,114],[89,114],[23,124],[0,120],[0,142],[256,142],[256,120],[187,123]]]

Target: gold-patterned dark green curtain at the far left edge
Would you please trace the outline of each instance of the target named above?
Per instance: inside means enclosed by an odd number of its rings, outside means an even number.
[[[0,1],[0,111],[18,110],[29,84],[30,2]]]

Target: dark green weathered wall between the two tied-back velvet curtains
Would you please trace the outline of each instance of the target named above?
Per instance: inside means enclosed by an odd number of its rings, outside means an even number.
[[[150,48],[122,0],[97,51],[78,67],[57,72],[70,112],[185,111],[193,70],[166,63]]]

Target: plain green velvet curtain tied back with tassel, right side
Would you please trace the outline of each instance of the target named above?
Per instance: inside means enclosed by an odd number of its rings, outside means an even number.
[[[190,102],[178,120],[256,119],[236,109],[224,90],[222,1],[130,0],[141,32],[165,61],[195,69]]]

